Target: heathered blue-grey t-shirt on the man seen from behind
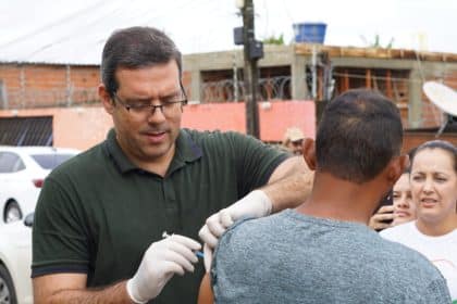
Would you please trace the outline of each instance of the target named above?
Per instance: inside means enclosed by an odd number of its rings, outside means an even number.
[[[211,281],[215,303],[450,303],[443,276],[416,251],[292,210],[233,225]]]

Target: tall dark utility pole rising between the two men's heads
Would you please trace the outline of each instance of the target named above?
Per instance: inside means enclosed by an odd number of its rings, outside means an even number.
[[[245,54],[244,85],[246,103],[246,130],[248,135],[260,138],[259,110],[257,107],[258,90],[258,66],[252,55],[256,46],[254,31],[254,3],[252,0],[245,0],[242,8],[243,13],[243,42]]]

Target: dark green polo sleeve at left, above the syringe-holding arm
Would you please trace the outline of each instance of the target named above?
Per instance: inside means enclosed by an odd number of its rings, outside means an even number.
[[[33,227],[32,277],[88,273],[89,245],[84,216],[67,191],[52,177],[41,189]]]

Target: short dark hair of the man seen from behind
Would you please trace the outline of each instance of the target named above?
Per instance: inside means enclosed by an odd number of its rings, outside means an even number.
[[[324,110],[316,137],[318,169],[362,183],[399,155],[402,143],[395,103],[376,91],[349,90]]]

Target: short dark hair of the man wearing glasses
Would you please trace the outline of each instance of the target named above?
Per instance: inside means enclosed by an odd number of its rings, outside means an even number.
[[[101,58],[101,80],[112,96],[119,88],[118,68],[141,68],[175,60],[182,74],[181,52],[174,42],[153,27],[128,27],[115,30],[108,38]]]

